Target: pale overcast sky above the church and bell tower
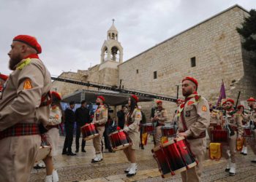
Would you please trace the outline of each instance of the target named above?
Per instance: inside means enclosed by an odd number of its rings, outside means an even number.
[[[255,0],[1,0],[0,72],[10,74],[7,52],[18,34],[36,36],[39,57],[59,75],[100,63],[113,18],[128,60],[234,4],[256,7]]]

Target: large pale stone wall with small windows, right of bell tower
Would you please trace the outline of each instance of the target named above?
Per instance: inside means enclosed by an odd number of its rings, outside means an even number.
[[[184,76],[193,76],[199,82],[200,95],[214,102],[222,79],[228,97],[236,98],[238,90],[242,92],[241,98],[255,95],[253,89],[246,91],[251,87],[253,71],[245,74],[246,68],[251,67],[242,54],[241,37],[236,32],[246,15],[238,6],[227,9],[122,63],[118,66],[118,77],[124,88],[176,96],[176,84],[181,84]],[[193,57],[195,67],[191,66]],[[171,116],[176,105],[168,102],[164,105]]]

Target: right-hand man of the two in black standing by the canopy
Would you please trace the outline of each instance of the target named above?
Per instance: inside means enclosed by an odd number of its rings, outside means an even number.
[[[77,128],[76,128],[76,135],[75,135],[75,147],[76,150],[75,152],[79,151],[79,139],[80,139],[80,134],[81,130],[80,128],[83,127],[83,125],[90,123],[90,114],[89,114],[89,109],[86,108],[86,100],[82,100],[80,108],[77,108],[75,110],[75,122],[77,123]],[[86,146],[86,141],[83,140],[82,138],[82,152],[86,152],[84,149]]]

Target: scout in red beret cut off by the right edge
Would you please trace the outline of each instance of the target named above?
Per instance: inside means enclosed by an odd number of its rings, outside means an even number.
[[[246,117],[246,121],[249,121],[251,129],[252,129],[252,134],[253,134],[253,139],[254,140],[249,140],[249,146],[251,147],[253,153],[255,154],[255,159],[252,159],[251,162],[256,163],[256,100],[255,98],[249,98],[247,100],[247,103],[249,107],[251,108],[250,113]]]

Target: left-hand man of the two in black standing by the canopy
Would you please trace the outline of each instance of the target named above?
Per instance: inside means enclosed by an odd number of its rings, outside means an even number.
[[[66,130],[66,138],[64,141],[64,147],[62,154],[67,154],[68,156],[75,156],[76,154],[72,153],[72,143],[73,143],[73,130],[75,124],[75,113],[73,109],[75,108],[75,102],[71,101],[69,103],[69,108],[64,112],[64,124]]]

